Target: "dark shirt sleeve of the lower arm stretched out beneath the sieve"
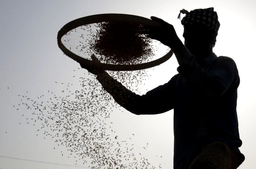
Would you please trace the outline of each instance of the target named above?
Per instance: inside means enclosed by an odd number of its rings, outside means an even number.
[[[133,114],[141,115],[160,114],[173,109],[177,76],[178,74],[173,76],[169,82],[144,95],[138,95],[128,90],[107,72],[97,76],[96,79],[120,106]]]

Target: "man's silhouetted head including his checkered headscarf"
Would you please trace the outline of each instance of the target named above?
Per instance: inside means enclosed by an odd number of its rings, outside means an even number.
[[[181,13],[186,14],[181,20],[184,27],[185,46],[195,56],[212,53],[220,27],[214,8],[195,9],[190,12],[182,9]]]

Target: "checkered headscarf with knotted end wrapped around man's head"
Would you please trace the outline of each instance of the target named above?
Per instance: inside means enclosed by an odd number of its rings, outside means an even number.
[[[186,14],[181,20],[182,25],[199,23],[206,25],[210,30],[214,30],[218,33],[220,23],[218,21],[217,12],[213,11],[214,8],[206,8],[206,9],[195,9],[193,11],[188,12],[185,9],[180,10],[180,14]],[[180,19],[180,14],[178,15],[178,19]]]

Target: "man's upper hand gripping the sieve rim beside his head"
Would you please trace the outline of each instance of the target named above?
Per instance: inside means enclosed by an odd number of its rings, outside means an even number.
[[[183,43],[181,42],[180,38],[178,38],[173,25],[155,16],[151,16],[150,18],[158,22],[161,27],[144,26],[144,28],[146,28],[144,33],[148,34],[149,38],[158,40],[162,44],[170,47],[174,53],[181,50]]]

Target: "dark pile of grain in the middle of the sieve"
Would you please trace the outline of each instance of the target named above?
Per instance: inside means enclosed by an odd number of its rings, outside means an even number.
[[[143,34],[143,25],[129,22],[98,23],[90,49],[99,60],[112,64],[138,64],[153,56],[152,40]]]

